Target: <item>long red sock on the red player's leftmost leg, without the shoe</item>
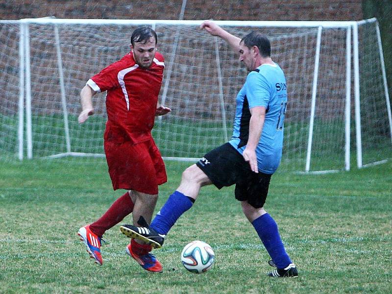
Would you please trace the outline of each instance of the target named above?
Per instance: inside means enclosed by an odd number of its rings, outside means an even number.
[[[106,230],[115,226],[122,221],[123,218],[129,215],[133,211],[133,206],[134,203],[132,202],[129,193],[126,192],[123,196],[114,201],[98,221],[90,224],[90,230],[92,230],[94,234],[97,234],[97,236],[102,237]]]

